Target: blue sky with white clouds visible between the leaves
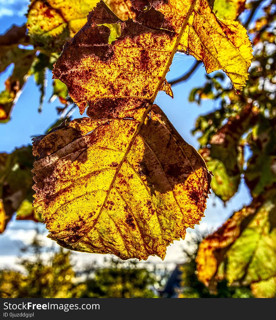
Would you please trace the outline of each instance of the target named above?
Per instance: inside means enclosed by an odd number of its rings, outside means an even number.
[[[28,0],[0,0],[0,34],[3,34],[12,24],[22,25],[26,21],[24,13],[27,11]],[[170,81],[185,73],[191,68],[194,58],[177,53],[174,57],[167,80]],[[0,90],[4,89],[4,81],[10,74],[12,67],[9,67],[0,75]],[[191,134],[196,118],[201,114],[206,114],[217,105],[213,101],[204,101],[199,107],[196,103],[189,103],[189,92],[193,87],[204,83],[205,68],[198,68],[190,77],[189,81],[173,86],[174,99],[171,99],[164,92],[159,92],[155,103],[158,104],[168,116],[181,136],[195,148],[199,144],[196,137]],[[39,91],[35,86],[33,77],[28,79],[22,94],[20,95],[15,108],[13,109],[11,120],[6,124],[0,124],[0,152],[11,152],[15,147],[31,144],[31,138],[42,134],[50,124],[57,119],[56,107],[59,101],[48,102],[51,96],[51,73],[48,74],[48,84],[46,97],[41,113],[37,112],[39,106]],[[73,117],[78,118],[80,114],[76,110]],[[239,192],[224,206],[213,194],[207,201],[205,217],[196,230],[214,230],[219,227],[235,210],[251,202],[251,198],[244,182],[241,183]],[[0,235],[0,268],[12,267],[16,261],[19,248],[24,244],[30,243],[34,234],[35,223],[31,221],[17,221],[13,219],[5,232]],[[51,246],[54,242],[46,238],[47,230],[40,224],[43,232],[43,241],[46,246]],[[187,230],[188,231],[188,230]],[[55,244],[54,244],[55,245]],[[185,241],[175,241],[168,247],[167,256],[162,262],[158,257],[150,257],[147,261],[154,263],[172,264],[181,262],[183,259],[182,248]],[[98,254],[74,253],[73,256],[78,263],[84,261],[102,260],[103,256]]]

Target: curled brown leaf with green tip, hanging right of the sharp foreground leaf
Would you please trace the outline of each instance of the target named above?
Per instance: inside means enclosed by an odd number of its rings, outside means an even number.
[[[213,128],[221,121],[221,116],[219,111],[201,116],[195,131],[204,132],[200,141],[209,143],[200,153],[209,170],[213,171],[212,187],[215,194],[225,202],[237,192],[243,172],[241,135],[256,123],[257,116],[252,112],[252,104],[248,104],[215,131]],[[215,134],[211,134],[212,129]]]

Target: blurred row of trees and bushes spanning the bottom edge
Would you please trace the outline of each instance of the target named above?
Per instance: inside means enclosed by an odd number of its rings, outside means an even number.
[[[106,257],[103,264],[87,264],[79,270],[70,251],[48,252],[37,233],[31,245],[21,249],[18,265],[22,271],[0,270],[0,298],[254,298],[249,287],[219,285],[216,295],[196,276],[195,256],[202,236],[189,243],[186,262],[169,271],[137,260]],[[28,253],[28,259],[23,258]]]

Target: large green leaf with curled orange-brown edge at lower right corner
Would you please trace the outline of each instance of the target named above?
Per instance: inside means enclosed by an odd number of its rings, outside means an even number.
[[[268,194],[269,191],[268,191]],[[196,258],[198,278],[211,291],[224,278],[230,285],[250,285],[256,297],[276,294],[275,191],[263,202],[235,212],[215,233],[203,240]]]

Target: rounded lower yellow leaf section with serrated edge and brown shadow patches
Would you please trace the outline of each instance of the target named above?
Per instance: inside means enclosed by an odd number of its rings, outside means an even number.
[[[34,142],[34,205],[60,245],[164,259],[204,216],[203,159],[159,107],[143,116],[76,119]]]

